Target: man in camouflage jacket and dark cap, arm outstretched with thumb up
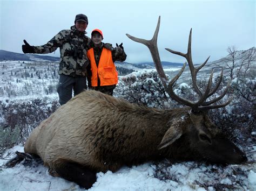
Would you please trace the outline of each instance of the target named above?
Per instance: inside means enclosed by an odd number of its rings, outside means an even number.
[[[86,85],[86,66],[89,64],[87,49],[90,47],[91,39],[85,34],[88,19],[85,15],[76,15],[75,25],[70,30],[62,30],[48,43],[42,46],[30,46],[26,40],[22,45],[24,53],[48,54],[60,49],[59,62],[59,103],[65,104],[72,98],[72,91],[76,96]]]

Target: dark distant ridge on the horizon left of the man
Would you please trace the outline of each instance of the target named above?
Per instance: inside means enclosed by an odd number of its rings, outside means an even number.
[[[37,55],[37,54],[20,54],[15,52],[4,51],[0,49],[0,61],[4,60],[19,60],[19,61],[59,61],[58,57]]]

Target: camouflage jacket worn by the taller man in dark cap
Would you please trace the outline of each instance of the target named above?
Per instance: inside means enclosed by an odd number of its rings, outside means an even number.
[[[89,64],[87,50],[91,39],[85,34],[86,32],[79,32],[75,26],[71,26],[71,30],[60,31],[45,45],[34,46],[35,53],[48,54],[59,48],[59,74],[86,76],[86,66]]]

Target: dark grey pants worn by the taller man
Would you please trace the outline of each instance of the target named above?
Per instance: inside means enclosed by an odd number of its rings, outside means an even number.
[[[65,104],[72,98],[73,91],[74,96],[76,96],[86,89],[86,77],[71,77],[60,74],[57,88],[60,105]]]

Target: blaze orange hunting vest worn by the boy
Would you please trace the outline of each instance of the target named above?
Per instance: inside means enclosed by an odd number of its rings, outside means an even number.
[[[116,66],[114,66],[114,62],[112,60],[112,53],[109,49],[103,47],[98,67],[96,65],[93,48],[90,48],[89,51],[87,51],[87,56],[88,59],[91,61],[92,87],[98,86],[98,77],[100,80],[100,86],[111,86],[117,84],[118,73],[116,70]]]

